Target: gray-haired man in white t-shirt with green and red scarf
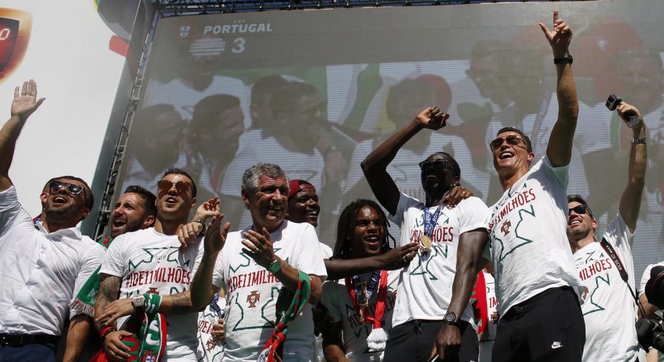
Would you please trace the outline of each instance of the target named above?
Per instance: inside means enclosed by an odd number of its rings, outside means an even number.
[[[206,231],[191,302],[203,308],[225,289],[223,361],[263,361],[275,354],[283,361],[316,361],[312,304],[326,270],[314,227],[285,219],[287,195],[281,167],[254,164],[242,176],[242,200],[253,224],[226,236],[229,224],[222,228],[221,215],[215,215]]]

